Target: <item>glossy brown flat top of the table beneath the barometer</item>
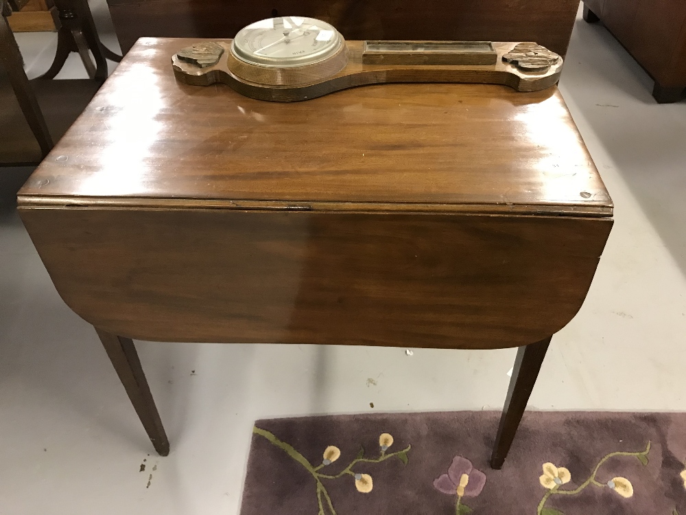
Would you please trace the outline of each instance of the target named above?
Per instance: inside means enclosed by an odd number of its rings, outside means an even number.
[[[20,205],[611,216],[556,87],[386,84],[292,104],[174,79],[196,39],[143,38]]]

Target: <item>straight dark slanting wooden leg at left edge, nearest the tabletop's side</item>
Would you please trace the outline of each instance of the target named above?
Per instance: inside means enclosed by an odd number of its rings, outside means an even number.
[[[19,101],[21,111],[45,157],[52,150],[52,137],[45,123],[43,111],[40,111],[36,94],[24,71],[19,47],[14,41],[14,35],[4,16],[0,16],[0,63],[7,71],[16,100]]]

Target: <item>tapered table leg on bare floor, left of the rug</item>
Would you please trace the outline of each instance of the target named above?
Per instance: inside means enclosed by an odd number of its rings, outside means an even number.
[[[100,341],[102,341],[102,345],[104,345],[136,413],[143,422],[143,427],[150,437],[152,445],[160,455],[168,455],[169,440],[165,428],[162,426],[162,420],[157,412],[152,393],[150,393],[150,387],[147,385],[133,341],[98,328],[95,328],[95,331],[100,337]]]

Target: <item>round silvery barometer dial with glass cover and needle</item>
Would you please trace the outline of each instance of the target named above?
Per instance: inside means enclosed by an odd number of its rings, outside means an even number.
[[[325,21],[281,16],[241,29],[233,40],[231,52],[251,65],[285,68],[324,60],[342,45],[342,36]]]

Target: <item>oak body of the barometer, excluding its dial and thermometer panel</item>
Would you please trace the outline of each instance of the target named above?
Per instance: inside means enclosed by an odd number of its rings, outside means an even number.
[[[224,47],[226,57],[211,67],[198,67],[176,54],[172,63],[174,75],[180,82],[193,86],[222,82],[242,95],[273,102],[313,100],[342,89],[392,82],[503,84],[517,91],[540,91],[554,86],[563,68],[563,60],[557,54],[552,54],[556,62],[552,63],[552,58],[548,58],[546,62],[552,64],[535,72],[521,69],[521,63],[504,62],[512,49],[525,45],[518,42],[494,42],[497,58],[491,65],[368,64],[364,61],[365,43],[348,41],[347,46],[341,47],[331,58],[303,67],[281,69],[249,65],[233,56],[228,41],[218,43]]]

